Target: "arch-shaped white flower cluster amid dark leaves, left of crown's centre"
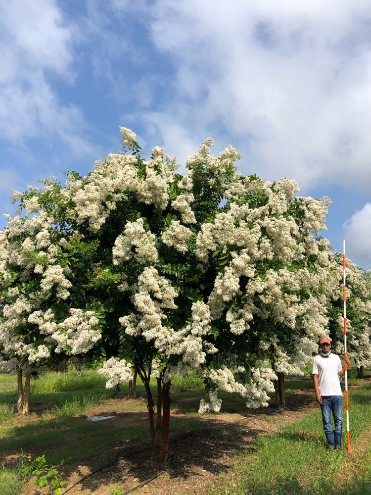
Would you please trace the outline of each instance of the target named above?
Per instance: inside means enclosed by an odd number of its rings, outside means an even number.
[[[119,265],[129,260],[132,255],[139,263],[156,262],[158,252],[155,239],[155,235],[144,230],[142,218],[138,218],[136,222],[128,222],[123,234],[116,239],[112,248],[113,264]]]

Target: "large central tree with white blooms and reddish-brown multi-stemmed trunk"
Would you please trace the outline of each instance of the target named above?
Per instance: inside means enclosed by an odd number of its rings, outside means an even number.
[[[188,158],[182,176],[163,148],[144,160],[135,133],[121,134],[124,152],[96,162],[87,177],[70,172],[64,187],[53,182],[45,193],[30,193],[37,199],[21,197],[53,212],[43,228],[57,256],[36,270],[36,294],[49,265],[61,277],[51,286],[55,306],[38,297],[22,325],[34,325],[49,352],[103,353],[100,373],[109,387],[130,380],[134,366],[147,393],[152,454],[164,459],[175,374],[191,369],[203,378],[200,413],[220,410],[219,388],[259,407],[268,405],[276,372],[296,371],[311,358],[328,323],[329,259],[328,242],[312,234],[325,228],[329,201],[294,197],[298,187],[289,179],[243,177],[235,166],[240,154],[229,146],[213,156],[211,138]],[[52,196],[52,207],[41,203],[43,195]],[[6,256],[5,263],[11,264]],[[64,299],[62,280],[71,283]],[[87,301],[99,301],[104,321],[91,320]],[[71,311],[89,318],[86,345],[73,345],[79,332],[76,318],[73,326],[66,317]],[[45,320],[56,324],[53,332],[45,332]]]

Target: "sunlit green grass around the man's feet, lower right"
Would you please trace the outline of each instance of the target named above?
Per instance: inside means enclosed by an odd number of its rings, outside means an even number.
[[[350,394],[354,448],[364,431],[371,432],[370,396],[370,384]],[[342,487],[342,473],[353,470],[354,461],[345,449],[327,451],[318,409],[286,426],[281,433],[260,438],[252,452],[237,456],[232,476],[211,488],[209,495],[370,493],[371,444],[367,448],[366,458],[356,461],[358,478]]]

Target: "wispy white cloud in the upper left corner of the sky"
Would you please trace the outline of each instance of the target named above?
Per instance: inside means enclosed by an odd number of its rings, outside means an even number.
[[[51,74],[73,82],[75,26],[54,0],[12,0],[0,3],[0,29],[0,137],[20,147],[42,137],[88,150],[81,110],[62,104],[50,82]]]

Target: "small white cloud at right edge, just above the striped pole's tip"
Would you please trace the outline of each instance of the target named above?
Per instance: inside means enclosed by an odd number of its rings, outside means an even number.
[[[346,239],[346,253],[356,263],[371,268],[371,203],[343,224]]]

